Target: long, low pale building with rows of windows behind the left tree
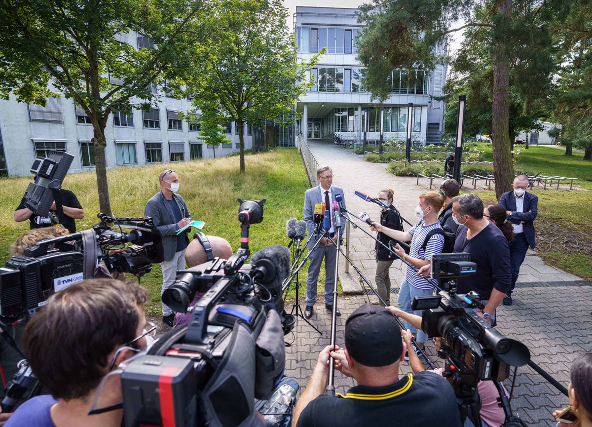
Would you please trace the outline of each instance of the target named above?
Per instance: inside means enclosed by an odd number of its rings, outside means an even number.
[[[151,43],[141,34],[121,37],[122,42],[136,48]],[[121,84],[109,77],[111,84]],[[114,113],[108,119],[105,129],[107,167],[213,157],[213,147],[200,140],[200,127],[190,126],[176,114],[190,113],[191,101],[169,97],[163,88],[156,86],[152,86],[152,91],[162,95],[157,108],[133,110],[129,116]],[[228,142],[216,147],[216,156],[240,148],[236,123],[228,123],[225,133]],[[252,133],[252,126],[245,126],[245,149],[252,147]],[[48,150],[75,155],[70,172],[94,170],[92,134],[88,116],[72,99],[47,98],[46,107],[17,102],[14,97],[9,101],[0,100],[0,176],[30,174],[33,160],[43,157]]]

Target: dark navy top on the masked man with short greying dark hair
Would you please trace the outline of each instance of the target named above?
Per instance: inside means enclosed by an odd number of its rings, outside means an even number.
[[[459,294],[475,291],[484,300],[489,299],[494,288],[505,294],[510,290],[512,278],[508,240],[492,223],[469,240],[466,240],[467,230],[462,225],[456,230],[454,252],[470,253],[471,262],[477,264],[477,273],[459,277],[456,291]]]

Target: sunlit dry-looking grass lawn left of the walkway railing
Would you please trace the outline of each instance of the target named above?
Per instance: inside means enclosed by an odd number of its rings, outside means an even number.
[[[143,216],[146,201],[159,191],[158,175],[168,168],[175,169],[179,175],[179,194],[184,197],[192,217],[205,221],[204,233],[224,237],[235,251],[240,246],[237,198],[267,199],[263,222],[250,227],[252,253],[275,243],[287,245],[286,220],[303,217],[304,191],[310,185],[296,149],[247,155],[244,175],[239,174],[239,156],[111,169],[107,176],[113,213],[118,217]],[[30,181],[30,177],[0,179],[0,200],[3,201],[0,206],[0,265],[9,258],[11,243],[28,230],[28,221],[15,223],[12,212]],[[98,223],[95,173],[70,174],[63,187],[72,190],[85,209],[85,218],[76,221],[77,229],[88,229]],[[320,277],[324,277],[324,268]],[[306,271],[303,271],[300,280],[304,285],[305,278]],[[152,271],[141,278],[141,284],[150,291],[147,314],[159,314],[160,265],[153,265]],[[319,287],[322,285],[320,280]],[[288,298],[291,297],[294,297],[293,291],[288,294]]]

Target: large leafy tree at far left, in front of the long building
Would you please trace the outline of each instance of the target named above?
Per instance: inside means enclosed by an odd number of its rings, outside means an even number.
[[[45,105],[53,91],[91,120],[99,206],[110,213],[105,127],[116,110],[147,108],[152,85],[177,82],[198,49],[204,2],[0,0],[0,97]],[[139,33],[139,50],[122,40]],[[117,85],[114,83],[117,82]],[[173,83],[174,84],[174,83]]]

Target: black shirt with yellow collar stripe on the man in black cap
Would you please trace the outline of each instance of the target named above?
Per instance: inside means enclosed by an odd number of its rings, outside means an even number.
[[[433,372],[406,375],[390,386],[356,386],[337,396],[318,396],[297,426],[461,426],[452,386]]]

